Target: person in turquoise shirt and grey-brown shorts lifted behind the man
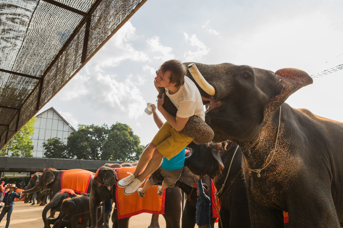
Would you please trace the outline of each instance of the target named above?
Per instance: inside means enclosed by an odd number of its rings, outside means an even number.
[[[161,128],[163,125],[163,121],[159,118],[156,113],[156,105],[151,105],[154,121],[158,128]],[[158,186],[157,194],[162,196],[164,189],[168,187],[174,187],[177,180],[180,178],[182,170],[185,164],[185,148],[181,150],[176,156],[171,159],[167,159],[163,157],[161,166],[159,167],[159,171],[161,175],[164,177],[162,185]],[[150,175],[149,179],[145,182],[143,188],[138,188],[137,193],[140,197],[144,197],[146,190],[151,188],[153,185],[157,184],[157,180],[154,180],[152,175]]]

